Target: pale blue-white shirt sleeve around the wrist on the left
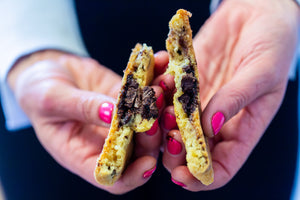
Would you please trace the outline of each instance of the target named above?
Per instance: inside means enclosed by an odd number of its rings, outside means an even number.
[[[75,5],[71,0],[0,1],[0,84],[1,103],[8,130],[30,126],[30,120],[17,103],[6,78],[22,56],[56,49],[88,56],[81,38]]]

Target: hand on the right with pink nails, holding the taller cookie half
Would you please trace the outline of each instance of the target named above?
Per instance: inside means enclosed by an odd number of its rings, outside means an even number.
[[[180,134],[171,130],[176,129],[170,120],[174,111],[168,107],[162,116],[168,119],[164,128],[171,139],[165,141],[163,162],[175,183],[191,191],[211,190],[241,168],[282,102],[298,28],[299,7],[282,0],[223,1],[201,28],[194,48],[201,121],[211,137],[215,181],[204,186],[189,173]],[[155,83],[161,80],[165,78]],[[166,88],[174,87],[169,78],[164,82]]]

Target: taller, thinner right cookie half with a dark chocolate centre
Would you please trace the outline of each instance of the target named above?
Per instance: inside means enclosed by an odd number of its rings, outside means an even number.
[[[167,73],[175,78],[174,111],[187,152],[187,167],[194,177],[209,185],[214,180],[214,173],[207,138],[200,123],[199,75],[189,24],[191,16],[190,12],[180,9],[169,22]]]

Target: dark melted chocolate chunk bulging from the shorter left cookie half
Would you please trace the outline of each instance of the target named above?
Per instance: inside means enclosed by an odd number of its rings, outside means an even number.
[[[118,104],[119,127],[128,124],[135,113],[147,120],[158,117],[154,90],[148,86],[143,89],[138,86],[133,75],[129,74]]]

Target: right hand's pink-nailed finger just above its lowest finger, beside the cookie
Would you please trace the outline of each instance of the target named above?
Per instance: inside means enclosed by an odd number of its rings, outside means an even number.
[[[186,151],[178,130],[170,131],[165,140],[163,165],[169,172],[172,172],[172,170],[177,166],[184,165],[186,163]]]

